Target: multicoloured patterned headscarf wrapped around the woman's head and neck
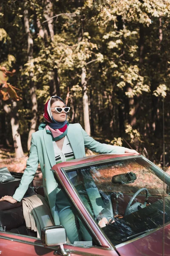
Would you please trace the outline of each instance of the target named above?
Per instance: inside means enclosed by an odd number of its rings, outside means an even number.
[[[61,140],[63,137],[65,137],[67,135],[67,131],[68,131],[67,127],[68,127],[69,123],[67,122],[66,119],[64,122],[57,122],[54,120],[52,113],[51,113],[51,99],[52,98],[57,98],[57,99],[62,100],[58,96],[52,96],[48,100],[48,102],[45,103],[44,113],[43,113],[45,122],[42,122],[40,124],[38,130],[42,130],[45,128],[46,132],[48,134],[51,134],[52,139],[54,141],[57,141],[57,140]],[[65,104],[65,102],[63,100],[62,100],[62,102]],[[66,104],[65,104],[65,106],[66,106]],[[66,116],[66,118],[67,118],[67,116]]]

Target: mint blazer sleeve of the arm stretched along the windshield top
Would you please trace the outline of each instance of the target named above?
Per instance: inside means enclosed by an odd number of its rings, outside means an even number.
[[[84,138],[85,147],[89,148],[91,151],[95,151],[97,153],[102,153],[102,154],[108,154],[108,153],[124,154],[125,153],[124,147],[108,145],[105,143],[99,143],[98,141],[90,137],[82,128],[82,126],[81,126],[81,130],[82,130],[82,136]]]

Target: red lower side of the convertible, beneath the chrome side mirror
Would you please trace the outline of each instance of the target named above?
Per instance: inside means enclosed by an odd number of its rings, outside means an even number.
[[[20,236],[13,233],[0,232],[0,254],[3,256],[118,256],[113,248],[97,246],[75,246],[65,244],[64,250],[60,246],[44,247],[40,239]]]

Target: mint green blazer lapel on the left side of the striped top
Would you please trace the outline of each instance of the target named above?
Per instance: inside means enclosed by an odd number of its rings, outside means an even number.
[[[47,151],[48,159],[51,164],[51,167],[53,167],[56,164],[53,141],[52,141],[51,135],[46,133],[45,128],[43,130],[43,137],[44,137],[45,149]]]

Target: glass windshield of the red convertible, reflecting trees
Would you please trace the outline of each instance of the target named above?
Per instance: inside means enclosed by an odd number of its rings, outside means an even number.
[[[170,221],[170,176],[144,157],[98,162],[67,175],[97,224],[105,220],[102,230],[114,245]]]

